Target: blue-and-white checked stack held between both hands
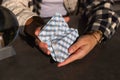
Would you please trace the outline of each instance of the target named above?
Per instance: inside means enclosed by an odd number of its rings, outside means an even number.
[[[55,61],[63,62],[69,57],[68,48],[78,36],[77,29],[69,28],[62,15],[56,13],[42,28],[38,38],[48,44]]]

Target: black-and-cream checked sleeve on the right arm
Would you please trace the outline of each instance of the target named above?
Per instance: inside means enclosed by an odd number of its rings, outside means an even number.
[[[119,26],[120,18],[112,9],[112,0],[92,0],[86,3],[85,15],[88,18],[88,30],[100,30],[103,40],[112,37]]]

